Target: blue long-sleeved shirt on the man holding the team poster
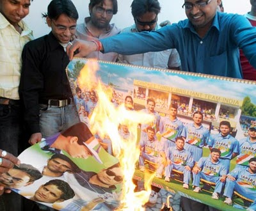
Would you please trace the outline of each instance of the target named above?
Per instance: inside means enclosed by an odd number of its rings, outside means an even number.
[[[242,78],[238,48],[256,68],[256,27],[243,16],[216,13],[212,26],[200,38],[188,19],[157,31],[122,33],[100,40],[104,52],[141,54],[177,49],[182,70]]]

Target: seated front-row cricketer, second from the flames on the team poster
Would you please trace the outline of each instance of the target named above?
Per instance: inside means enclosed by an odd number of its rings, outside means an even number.
[[[183,187],[184,189],[189,189],[193,158],[191,153],[184,149],[185,141],[183,137],[177,137],[175,143],[176,146],[170,146],[167,149],[166,157],[168,166],[165,168],[164,181],[170,182],[172,169],[176,169],[183,172]]]

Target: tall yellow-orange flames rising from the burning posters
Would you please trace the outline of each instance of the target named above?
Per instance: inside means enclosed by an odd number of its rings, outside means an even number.
[[[144,210],[142,206],[147,203],[151,192],[151,182],[154,174],[145,174],[145,191],[134,192],[135,185],[132,177],[135,171],[135,164],[140,156],[138,147],[138,124],[149,123],[153,117],[149,114],[138,111],[129,111],[124,105],[115,107],[111,102],[113,89],[105,86],[95,77],[99,69],[96,62],[86,63],[79,75],[78,84],[83,88],[86,86],[97,92],[98,102],[90,117],[90,129],[98,133],[100,137],[108,135],[112,142],[113,153],[119,160],[124,173],[124,185],[121,205],[118,210]],[[98,81],[97,81],[98,80]],[[130,136],[123,138],[118,133],[118,127],[126,126]]]

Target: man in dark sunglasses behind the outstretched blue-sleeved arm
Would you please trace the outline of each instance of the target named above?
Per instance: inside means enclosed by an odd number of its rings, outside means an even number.
[[[134,0],[131,8],[134,24],[123,29],[121,33],[152,31],[161,28],[157,24],[157,15],[161,10],[157,0]],[[179,70],[180,68],[180,58],[176,49],[133,55],[119,54],[118,61],[131,65],[169,68],[172,70]]]

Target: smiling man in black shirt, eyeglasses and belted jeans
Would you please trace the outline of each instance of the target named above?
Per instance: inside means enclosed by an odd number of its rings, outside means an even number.
[[[52,0],[43,16],[51,32],[29,42],[22,52],[20,96],[31,145],[79,122],[65,72],[67,43],[76,33],[76,7],[70,0]]]

